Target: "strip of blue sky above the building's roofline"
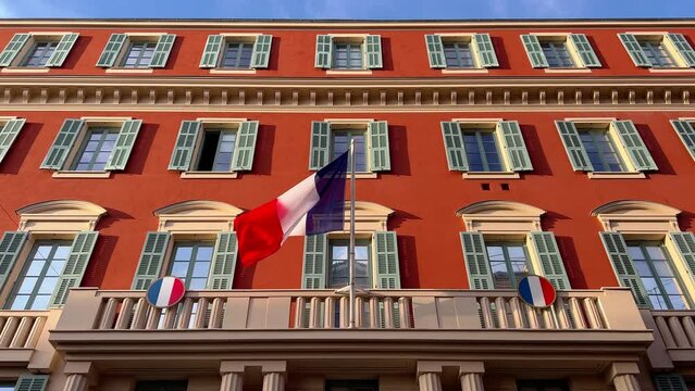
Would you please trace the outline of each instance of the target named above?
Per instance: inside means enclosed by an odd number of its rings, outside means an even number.
[[[695,0],[0,0],[0,17],[694,17]]]

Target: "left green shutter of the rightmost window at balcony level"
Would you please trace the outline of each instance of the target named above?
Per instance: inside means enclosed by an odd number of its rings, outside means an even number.
[[[618,232],[600,232],[600,240],[604,242],[606,253],[610,258],[610,264],[616,272],[620,285],[632,290],[632,295],[638,306],[651,307],[647,291],[642,283],[642,278],[635,269],[635,265],[628,253],[628,244]]]

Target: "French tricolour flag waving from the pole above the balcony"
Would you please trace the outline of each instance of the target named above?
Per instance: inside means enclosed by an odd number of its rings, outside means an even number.
[[[343,230],[348,152],[275,200],[234,220],[237,256],[249,266],[273,254],[290,236]]]

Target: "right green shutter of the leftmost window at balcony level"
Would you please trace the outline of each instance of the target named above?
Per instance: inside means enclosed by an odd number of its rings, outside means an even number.
[[[55,283],[55,290],[51,299],[52,307],[65,304],[70,289],[79,287],[98,236],[99,232],[96,231],[82,231],[75,236],[63,273]]]

